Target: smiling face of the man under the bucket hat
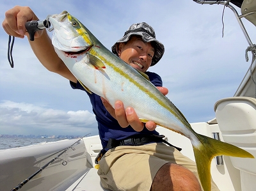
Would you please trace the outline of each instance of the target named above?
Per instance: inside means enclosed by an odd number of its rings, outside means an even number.
[[[127,43],[118,44],[118,56],[133,68],[146,72],[154,56],[151,43],[143,42],[140,36],[131,36]]]

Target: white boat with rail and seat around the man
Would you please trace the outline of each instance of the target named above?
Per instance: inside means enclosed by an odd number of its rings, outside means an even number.
[[[198,134],[234,144],[256,157],[256,47],[242,22],[247,19],[256,26],[256,0],[193,1],[204,6],[222,4],[230,8],[253,59],[234,96],[215,103],[216,118],[191,123],[191,126]],[[241,15],[235,6],[241,8]],[[161,126],[156,130],[166,136],[166,141],[170,139],[173,145],[182,148],[184,155],[195,160],[189,139]],[[95,135],[0,150],[0,190],[15,187],[15,190],[31,191],[104,190],[94,162],[101,149],[99,135]],[[256,159],[218,156],[212,160],[211,174],[221,191],[253,191],[256,188]]]

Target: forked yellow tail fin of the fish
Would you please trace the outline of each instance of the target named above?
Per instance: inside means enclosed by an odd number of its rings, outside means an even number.
[[[204,191],[211,190],[211,161],[219,155],[254,158],[252,154],[227,142],[198,134],[200,144],[193,145],[198,176]]]

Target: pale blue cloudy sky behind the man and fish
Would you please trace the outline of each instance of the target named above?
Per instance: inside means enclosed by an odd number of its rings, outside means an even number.
[[[1,0],[3,1],[3,0]],[[234,13],[223,5],[193,0],[3,1],[0,20],[16,4],[44,20],[67,10],[108,49],[133,23],[147,22],[164,44],[164,56],[149,68],[163,79],[167,97],[190,123],[215,117],[214,103],[234,96],[250,66],[248,43]],[[237,8],[238,13],[241,13]],[[253,25],[243,20],[255,42]],[[254,36],[253,36],[254,35]],[[97,122],[86,93],[40,64],[26,38],[15,38],[14,68],[7,60],[8,35],[0,29],[0,134],[96,135]]]

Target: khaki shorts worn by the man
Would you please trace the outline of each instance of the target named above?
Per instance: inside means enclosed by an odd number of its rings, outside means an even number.
[[[163,143],[113,148],[99,161],[98,174],[107,190],[149,191],[157,171],[168,162],[186,167],[198,178],[195,162]],[[213,181],[212,190],[219,190]]]

